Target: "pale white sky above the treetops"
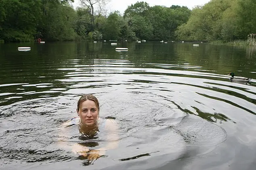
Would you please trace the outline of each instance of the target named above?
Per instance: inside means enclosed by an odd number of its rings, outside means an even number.
[[[197,5],[204,5],[210,0],[110,0],[108,3],[108,9],[111,11],[119,10],[121,14],[124,13],[124,10],[131,4],[135,4],[136,2],[147,2],[149,6],[161,5],[170,7],[172,5],[179,6],[187,6],[189,9],[193,9],[193,7]],[[75,0],[73,3],[74,7],[79,6],[79,0]]]

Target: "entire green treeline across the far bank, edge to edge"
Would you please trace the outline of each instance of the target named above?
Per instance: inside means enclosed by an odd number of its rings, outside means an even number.
[[[131,4],[123,16],[105,13],[105,0],[0,0],[0,40],[147,39],[233,41],[256,32],[254,0],[211,0],[185,6]]]

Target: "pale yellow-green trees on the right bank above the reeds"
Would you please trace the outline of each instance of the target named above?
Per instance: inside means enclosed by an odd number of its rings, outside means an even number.
[[[192,10],[188,22],[178,27],[177,39],[247,40],[249,33],[256,33],[255,9],[255,0],[211,0]]]

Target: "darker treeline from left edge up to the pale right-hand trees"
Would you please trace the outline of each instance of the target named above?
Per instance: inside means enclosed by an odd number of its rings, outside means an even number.
[[[4,41],[53,41],[75,39],[175,39],[178,26],[186,23],[187,7],[153,6],[137,2],[124,16],[118,11],[106,16],[99,6],[104,0],[0,0],[0,39]],[[101,6],[102,7],[102,6]]]

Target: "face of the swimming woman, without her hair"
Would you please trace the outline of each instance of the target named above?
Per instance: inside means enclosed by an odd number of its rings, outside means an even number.
[[[77,111],[81,122],[85,125],[93,125],[97,122],[99,116],[99,109],[92,100],[85,100],[82,102],[79,111]]]

